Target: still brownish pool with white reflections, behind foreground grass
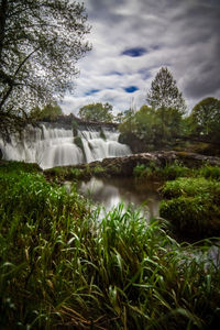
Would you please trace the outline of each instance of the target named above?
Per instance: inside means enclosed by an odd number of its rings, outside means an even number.
[[[158,216],[158,183],[138,183],[133,178],[92,177],[89,182],[81,182],[78,185],[78,191],[94,202],[103,206],[106,211],[122,201],[124,206],[129,204],[142,206],[142,212],[147,218],[152,218]]]

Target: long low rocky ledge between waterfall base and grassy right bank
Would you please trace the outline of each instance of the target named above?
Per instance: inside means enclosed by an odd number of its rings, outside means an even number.
[[[133,176],[133,170],[138,165],[151,166],[153,163],[155,166],[164,168],[175,162],[189,168],[196,168],[204,164],[220,166],[220,157],[188,152],[158,151],[105,158],[89,164],[58,166],[48,168],[44,173],[48,178],[61,176],[62,179],[89,178],[91,176]]]

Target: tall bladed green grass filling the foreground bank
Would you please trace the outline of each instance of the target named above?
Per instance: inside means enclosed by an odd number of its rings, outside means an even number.
[[[0,328],[210,329],[220,271],[121,205],[102,220],[31,165],[0,166]]]

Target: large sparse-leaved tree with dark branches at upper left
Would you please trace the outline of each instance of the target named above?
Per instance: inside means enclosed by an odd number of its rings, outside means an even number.
[[[0,0],[0,129],[73,89],[76,63],[90,50],[84,4],[72,0]]]

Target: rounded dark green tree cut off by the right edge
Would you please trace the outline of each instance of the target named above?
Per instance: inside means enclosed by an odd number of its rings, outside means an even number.
[[[220,140],[220,100],[209,97],[197,103],[191,111],[191,123],[194,132]]]

